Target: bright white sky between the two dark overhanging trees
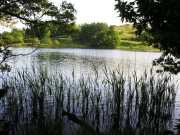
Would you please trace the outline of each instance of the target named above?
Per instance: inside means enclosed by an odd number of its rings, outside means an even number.
[[[59,5],[62,0],[50,0]],[[119,25],[121,20],[114,10],[115,0],[66,0],[71,2],[76,13],[76,23],[105,22],[109,25]]]

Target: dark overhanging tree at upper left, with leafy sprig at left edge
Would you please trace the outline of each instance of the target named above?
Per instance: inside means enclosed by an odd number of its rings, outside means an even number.
[[[14,24],[14,20],[20,20],[35,30],[44,22],[71,24],[75,20],[74,14],[73,5],[66,1],[63,1],[58,8],[48,0],[0,0],[0,24],[4,24],[4,22],[5,24]],[[38,33],[40,32],[38,31]],[[0,46],[0,66],[2,66],[12,54],[9,44],[2,39]]]

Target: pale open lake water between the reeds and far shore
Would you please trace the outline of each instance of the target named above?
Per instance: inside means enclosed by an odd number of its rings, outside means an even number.
[[[17,54],[26,54],[33,51],[32,48],[15,49]],[[35,68],[46,67],[48,72],[61,71],[66,76],[71,76],[74,71],[75,77],[92,75],[94,68],[101,75],[104,67],[115,70],[122,69],[129,75],[133,71],[138,74],[152,68],[152,60],[158,58],[161,53],[134,52],[120,50],[97,50],[97,49],[38,49],[31,55],[18,56],[11,59],[12,72],[16,69],[26,68],[31,71]],[[175,76],[176,80],[179,75]],[[102,76],[103,77],[103,76]],[[180,92],[177,90],[175,104],[175,118],[180,118]]]

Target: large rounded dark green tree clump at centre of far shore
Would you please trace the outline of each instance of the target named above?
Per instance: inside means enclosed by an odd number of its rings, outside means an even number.
[[[119,35],[114,28],[104,23],[82,25],[77,39],[91,48],[115,48],[120,42]]]

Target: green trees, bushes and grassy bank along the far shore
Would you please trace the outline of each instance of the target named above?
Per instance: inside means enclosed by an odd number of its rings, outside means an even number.
[[[54,30],[52,25],[42,28],[12,29],[11,32],[1,33],[1,42],[11,47],[37,48],[83,48],[83,49],[120,49],[128,51],[160,50],[148,44],[148,34],[136,35],[131,24],[108,26],[104,23],[72,25],[65,31]],[[45,28],[43,28],[45,27]],[[39,33],[38,31],[41,31]]]

